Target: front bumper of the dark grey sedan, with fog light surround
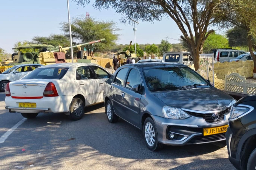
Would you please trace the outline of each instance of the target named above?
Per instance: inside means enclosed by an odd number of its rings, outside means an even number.
[[[203,136],[203,128],[228,125],[228,119],[217,124],[208,124],[203,119],[189,117],[183,120],[166,119],[152,116],[158,132],[158,141],[167,145],[188,145],[210,143],[225,140],[225,133]],[[169,133],[177,134],[176,139],[170,139]]]

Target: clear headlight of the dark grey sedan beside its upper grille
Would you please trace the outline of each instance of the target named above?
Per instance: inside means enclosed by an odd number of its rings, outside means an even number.
[[[190,115],[184,112],[182,109],[168,106],[163,107],[163,115],[168,119],[186,119],[190,117]]]

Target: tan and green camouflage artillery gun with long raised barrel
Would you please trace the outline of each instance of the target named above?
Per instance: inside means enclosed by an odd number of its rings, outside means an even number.
[[[103,42],[105,39],[93,41],[93,42],[86,42],[78,45],[74,45],[73,48],[78,48],[78,51],[81,51],[81,46],[93,44],[97,42]],[[21,45],[16,48],[18,49],[18,53],[12,54],[13,63],[37,63],[37,64],[46,64],[48,62],[52,63],[60,63],[65,62],[66,59],[66,52],[71,47],[62,47],[59,46],[52,46],[48,44],[28,44],[28,45]],[[23,53],[21,49],[31,49],[31,52]]]

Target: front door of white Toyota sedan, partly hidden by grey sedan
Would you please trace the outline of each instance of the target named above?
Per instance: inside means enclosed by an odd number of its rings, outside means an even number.
[[[103,85],[104,82],[110,77],[110,73],[105,71],[104,69],[96,66],[96,65],[91,65],[90,68],[94,71],[94,77],[96,81],[99,83],[100,87],[100,94],[99,94],[99,101],[103,101]]]

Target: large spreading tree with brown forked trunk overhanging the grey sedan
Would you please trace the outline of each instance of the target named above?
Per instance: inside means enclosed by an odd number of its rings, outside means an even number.
[[[90,0],[73,0],[77,5],[85,6]],[[213,32],[208,27],[218,20],[213,16],[218,13],[218,6],[226,0],[96,0],[94,7],[114,8],[122,13],[122,22],[160,21],[169,16],[182,32],[188,43],[195,69],[199,69],[199,54],[207,37]],[[131,20],[132,19],[132,20]]]

